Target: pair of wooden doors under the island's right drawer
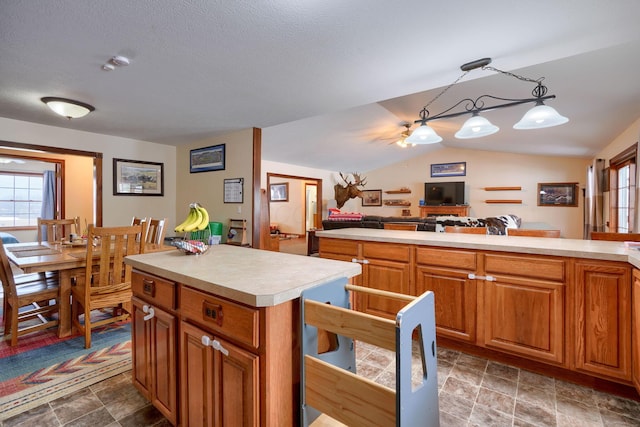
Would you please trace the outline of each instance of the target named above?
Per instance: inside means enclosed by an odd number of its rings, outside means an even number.
[[[221,349],[202,343],[216,339]],[[258,426],[259,358],[190,323],[180,324],[183,426]],[[226,354],[225,354],[226,353]]]

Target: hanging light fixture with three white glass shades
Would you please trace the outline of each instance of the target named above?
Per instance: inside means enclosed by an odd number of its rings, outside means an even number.
[[[555,109],[544,105],[544,101],[553,99],[555,95],[547,95],[547,87],[542,84],[544,77],[537,80],[530,79],[528,77],[519,76],[508,71],[502,71],[494,67],[489,67],[491,58],[482,58],[476,61],[468,62],[460,66],[460,69],[464,73],[458,77],[458,79],[444,88],[438,95],[436,95],[427,105],[425,105],[420,111],[420,119],[415,123],[419,123],[420,126],[413,131],[413,133],[405,140],[407,143],[412,144],[435,144],[442,141],[442,137],[431,128],[427,122],[432,120],[450,119],[453,117],[459,117],[465,114],[470,114],[469,118],[462,128],[456,132],[455,136],[459,139],[480,138],[487,135],[492,135],[500,130],[499,127],[493,125],[489,120],[480,116],[483,111],[497,110],[500,108],[514,107],[520,104],[535,103],[536,105],[525,113],[522,119],[516,123],[514,129],[541,129],[551,126],[558,126],[569,121],[568,118],[561,116]],[[532,98],[512,99],[512,98],[500,98],[493,95],[481,95],[476,99],[465,98],[457,102],[453,107],[448,108],[442,113],[430,116],[427,109],[431,103],[438,99],[442,94],[449,90],[452,86],[457,84],[469,71],[476,68],[482,68],[483,70],[495,71],[507,76],[515,77],[516,79],[535,83],[536,87],[531,91]],[[496,105],[487,105],[485,101],[489,102],[503,102]],[[464,111],[455,112],[456,108],[463,107]]]

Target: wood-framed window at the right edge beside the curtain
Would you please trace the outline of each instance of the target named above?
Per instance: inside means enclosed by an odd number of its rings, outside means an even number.
[[[609,229],[616,233],[635,232],[636,150],[633,145],[609,161]]]

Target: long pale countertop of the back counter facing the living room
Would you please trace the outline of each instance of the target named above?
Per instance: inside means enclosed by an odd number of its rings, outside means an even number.
[[[316,231],[316,236],[320,238],[330,237],[334,239],[370,242],[406,243],[412,245],[623,261],[640,268],[640,251],[627,248],[623,242],[603,240],[437,233],[373,228],[319,230]]]

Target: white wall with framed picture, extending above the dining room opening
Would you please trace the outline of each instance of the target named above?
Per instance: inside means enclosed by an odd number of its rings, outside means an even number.
[[[91,116],[85,120],[91,120]],[[0,140],[102,153],[103,225],[129,224],[133,216],[167,217],[169,224],[175,224],[176,147],[6,118],[0,118]],[[112,184],[114,157],[164,163],[164,196],[114,196]],[[67,165],[67,172],[71,172],[74,167]],[[72,175],[67,176],[67,179],[77,179],[78,184],[83,187],[93,185],[92,179],[86,179],[84,175],[76,176],[75,170]],[[84,198],[74,201],[69,199],[67,215],[75,209],[81,210],[74,208],[76,203],[89,202]]]

